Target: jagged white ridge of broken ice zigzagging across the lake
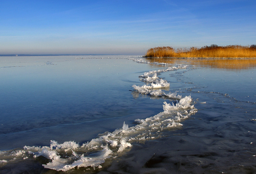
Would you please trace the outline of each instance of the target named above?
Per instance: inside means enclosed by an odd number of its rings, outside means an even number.
[[[4,156],[8,156],[8,159],[0,159],[0,162],[6,163],[16,158],[26,159],[31,156],[34,158],[44,156],[48,158],[50,162],[43,164],[43,166],[58,171],[67,171],[75,167],[101,168],[101,164],[104,163],[107,158],[114,158],[118,154],[131,148],[133,141],[155,139],[160,136],[159,132],[161,133],[161,131],[165,129],[182,126],[181,121],[197,111],[194,106],[191,105],[192,98],[190,96],[181,98],[176,92],[165,94],[161,89],[155,89],[158,88],[158,86],[161,86],[159,88],[164,88],[166,84],[169,86],[167,81],[159,80],[159,78],[156,78],[156,75],[171,69],[172,68],[168,68],[144,73],[143,78],[150,77],[151,80],[155,80],[150,86],[134,86],[134,88],[137,88],[136,90],[144,90],[144,93],[150,96],[180,99],[180,101],[176,100],[171,104],[164,102],[163,112],[145,119],[137,119],[135,122],[138,124],[132,127],[129,127],[128,124],[124,122],[122,128],[116,129],[112,133],[107,132],[105,135],[92,139],[82,145],[74,141],[66,141],[59,144],[57,141],[51,140],[49,146],[25,146],[23,150],[12,151],[9,155],[6,155],[7,152],[1,152],[0,155],[4,154]]]

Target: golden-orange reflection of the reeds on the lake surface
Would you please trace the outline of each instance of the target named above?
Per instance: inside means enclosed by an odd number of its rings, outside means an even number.
[[[256,59],[201,59],[201,58],[146,58],[150,62],[170,64],[190,64],[220,69],[252,69],[256,67]]]

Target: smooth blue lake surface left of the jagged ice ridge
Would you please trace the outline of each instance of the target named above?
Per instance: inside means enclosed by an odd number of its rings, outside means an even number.
[[[131,95],[134,81],[140,83],[136,73],[149,65],[127,57],[1,57],[0,66],[1,150],[52,139],[85,142],[154,109],[138,111],[145,98]],[[116,117],[127,118],[112,124]]]

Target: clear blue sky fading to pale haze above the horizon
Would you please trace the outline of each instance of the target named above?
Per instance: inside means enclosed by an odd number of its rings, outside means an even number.
[[[0,0],[0,54],[256,44],[255,0]]]

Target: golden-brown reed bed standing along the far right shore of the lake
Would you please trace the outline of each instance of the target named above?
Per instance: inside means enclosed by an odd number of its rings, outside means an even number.
[[[256,45],[203,46],[201,48],[155,47],[150,48],[145,57],[206,57],[206,58],[256,58]]]

